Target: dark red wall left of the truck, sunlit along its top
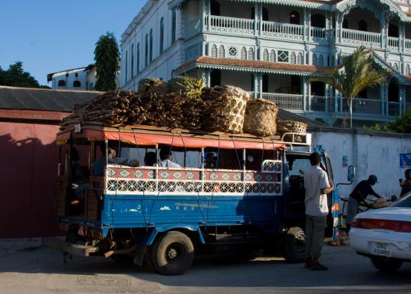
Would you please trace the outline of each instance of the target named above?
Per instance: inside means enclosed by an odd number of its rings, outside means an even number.
[[[0,122],[0,238],[60,235],[56,125]]]

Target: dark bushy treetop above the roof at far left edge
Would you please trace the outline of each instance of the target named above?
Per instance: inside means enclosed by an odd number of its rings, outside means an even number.
[[[40,86],[39,82],[23,69],[23,62],[10,64],[7,71],[0,68],[0,85],[3,86],[25,86],[30,88],[50,88]]]

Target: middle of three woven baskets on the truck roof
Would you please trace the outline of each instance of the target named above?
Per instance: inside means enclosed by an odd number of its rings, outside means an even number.
[[[250,99],[244,118],[244,133],[255,136],[273,136],[277,132],[278,105],[264,99]]]

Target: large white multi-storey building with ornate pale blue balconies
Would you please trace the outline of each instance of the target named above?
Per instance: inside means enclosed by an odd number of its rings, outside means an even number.
[[[149,0],[122,34],[120,85],[199,71],[340,126],[345,99],[309,77],[364,45],[392,77],[354,100],[354,125],[387,122],[411,106],[409,1]]]

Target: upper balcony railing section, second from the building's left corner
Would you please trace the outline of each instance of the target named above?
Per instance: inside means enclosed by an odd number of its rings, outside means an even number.
[[[304,36],[304,26],[297,24],[282,24],[279,22],[263,21],[262,35],[264,37],[274,37],[279,39],[302,40]]]

